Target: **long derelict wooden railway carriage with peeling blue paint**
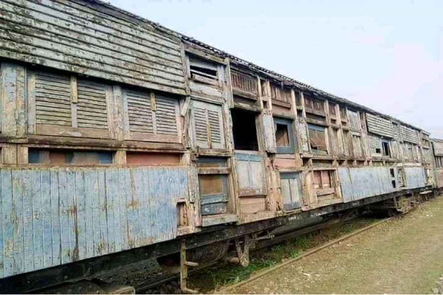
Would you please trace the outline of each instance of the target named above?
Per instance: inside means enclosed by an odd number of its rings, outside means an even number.
[[[104,2],[0,10],[1,290],[434,186],[405,122]]]

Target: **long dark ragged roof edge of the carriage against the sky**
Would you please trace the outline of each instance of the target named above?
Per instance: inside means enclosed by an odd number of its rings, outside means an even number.
[[[78,0],[77,0],[77,1],[78,1]],[[316,92],[316,93],[318,93],[318,94],[320,94],[320,95],[323,95],[323,96],[325,96],[325,97],[327,97],[327,98],[330,98],[330,99],[332,99],[332,100],[334,100],[334,101],[336,101],[336,102],[338,102],[338,103],[341,102],[341,103],[348,104],[349,106],[352,106],[352,107],[354,107],[354,108],[358,108],[358,109],[364,110],[364,111],[366,111],[366,112],[368,112],[368,113],[372,113],[372,114],[374,114],[374,115],[378,115],[378,116],[382,116],[382,117],[384,117],[384,118],[391,119],[391,120],[393,120],[393,121],[395,121],[395,122],[401,123],[401,124],[403,124],[403,125],[409,126],[409,127],[414,128],[414,129],[416,129],[416,130],[419,130],[419,131],[422,131],[422,132],[425,132],[425,133],[430,134],[429,132],[427,132],[427,131],[425,131],[425,130],[423,130],[423,129],[421,129],[421,128],[418,128],[418,127],[416,127],[416,126],[413,126],[413,125],[411,125],[411,124],[409,124],[409,123],[407,123],[407,122],[404,122],[404,121],[402,121],[402,120],[400,120],[400,119],[397,119],[397,118],[394,118],[394,117],[392,117],[392,116],[389,116],[389,115],[386,115],[386,114],[383,114],[383,113],[377,112],[377,111],[375,111],[375,110],[373,110],[373,109],[370,109],[370,108],[368,108],[368,107],[365,107],[365,106],[363,106],[363,105],[360,105],[360,104],[358,104],[358,103],[355,103],[355,102],[353,102],[353,101],[350,101],[350,100],[348,100],[348,99],[346,99],[346,98],[343,98],[343,97],[340,97],[340,96],[334,95],[334,94],[332,94],[332,93],[326,92],[326,91],[321,90],[321,89],[317,89],[317,88],[315,88],[315,87],[313,87],[313,86],[310,86],[310,85],[308,85],[308,84],[305,84],[305,83],[303,83],[303,82],[297,81],[297,80],[295,80],[295,79],[292,79],[292,78],[286,77],[285,75],[282,75],[282,74],[279,74],[279,73],[277,73],[277,72],[274,72],[274,71],[268,70],[268,69],[266,69],[266,68],[263,68],[263,67],[261,67],[261,66],[259,66],[259,65],[256,65],[256,64],[254,64],[254,63],[252,63],[252,62],[249,62],[249,61],[247,61],[247,60],[240,59],[240,58],[238,58],[238,57],[236,57],[236,56],[233,56],[233,55],[231,55],[231,54],[228,54],[228,53],[226,53],[226,52],[224,52],[224,51],[222,51],[222,50],[220,50],[220,49],[217,49],[217,48],[215,48],[215,47],[213,47],[213,46],[211,46],[211,45],[208,45],[208,44],[206,44],[206,43],[204,43],[204,42],[198,41],[198,40],[196,40],[196,39],[194,39],[194,38],[192,38],[192,37],[186,36],[186,35],[184,35],[184,34],[182,34],[182,33],[179,33],[179,32],[177,32],[177,31],[175,31],[175,30],[172,30],[172,29],[168,29],[168,28],[166,28],[166,27],[163,27],[163,26],[161,26],[161,25],[158,24],[158,23],[155,23],[155,22],[150,21],[150,20],[148,20],[148,19],[145,19],[145,18],[143,18],[143,17],[141,17],[141,16],[138,16],[138,15],[136,15],[136,14],[133,14],[133,13],[131,13],[131,12],[128,12],[128,11],[126,11],[126,10],[123,10],[123,9],[121,9],[121,8],[115,6],[115,5],[110,4],[110,3],[106,3],[106,2],[104,2],[104,1],[102,1],[102,0],[80,0],[80,1],[97,3],[97,4],[99,4],[99,5],[102,5],[102,6],[104,6],[104,7],[107,7],[107,8],[109,8],[109,9],[112,9],[112,10],[118,11],[118,12],[120,12],[120,13],[122,13],[122,14],[128,16],[128,17],[134,18],[135,20],[138,20],[138,21],[142,21],[142,22],[144,22],[144,23],[147,23],[147,24],[149,24],[150,26],[154,27],[155,29],[163,30],[164,32],[166,32],[166,33],[168,33],[168,34],[171,34],[171,35],[174,35],[174,36],[176,36],[176,37],[179,37],[180,39],[182,39],[182,40],[184,40],[184,41],[188,41],[188,42],[190,42],[190,43],[192,43],[192,44],[195,44],[195,45],[201,46],[201,47],[203,47],[203,48],[205,48],[205,49],[208,49],[208,50],[210,50],[213,54],[215,54],[215,55],[217,55],[217,56],[219,56],[219,57],[221,57],[221,58],[229,58],[229,59],[235,60],[236,62],[238,62],[239,64],[241,64],[241,65],[243,65],[243,66],[250,67],[250,68],[252,68],[252,69],[254,69],[254,70],[256,70],[256,71],[259,71],[259,72],[261,72],[261,73],[263,73],[263,74],[266,74],[266,75],[269,75],[269,76],[274,76],[274,78],[277,78],[277,79],[280,78],[280,79],[282,79],[282,81],[286,81],[286,82],[289,82],[289,83],[291,83],[291,84],[294,84],[295,87],[300,88],[301,90],[303,90],[303,89],[308,89],[308,90],[310,90],[310,91],[313,91],[313,92]],[[92,8],[94,8],[94,7],[92,7]]]

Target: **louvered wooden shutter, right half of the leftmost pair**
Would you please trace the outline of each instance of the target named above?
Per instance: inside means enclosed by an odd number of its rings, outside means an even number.
[[[99,82],[78,80],[78,127],[108,129],[106,86]]]

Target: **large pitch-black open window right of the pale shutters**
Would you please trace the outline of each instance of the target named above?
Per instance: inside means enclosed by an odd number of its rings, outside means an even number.
[[[232,109],[232,133],[234,148],[243,150],[258,150],[257,128],[255,113],[240,109]]]

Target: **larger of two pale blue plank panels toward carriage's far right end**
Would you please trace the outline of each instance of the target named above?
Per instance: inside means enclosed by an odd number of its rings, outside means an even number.
[[[343,201],[351,202],[396,191],[397,188],[394,188],[391,182],[389,169],[392,168],[338,168]],[[397,170],[394,172],[397,179]]]

